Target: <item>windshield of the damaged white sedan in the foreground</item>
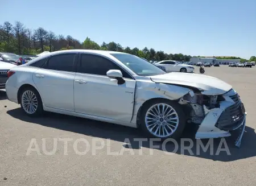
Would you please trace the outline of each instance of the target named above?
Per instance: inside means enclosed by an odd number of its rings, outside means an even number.
[[[140,57],[126,53],[110,54],[126,65],[126,67],[130,68],[131,71],[136,73],[138,76],[156,76],[166,73],[162,69],[156,67],[154,64],[143,60]]]

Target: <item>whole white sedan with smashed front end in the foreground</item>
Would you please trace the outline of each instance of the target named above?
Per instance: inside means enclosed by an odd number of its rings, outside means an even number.
[[[127,53],[51,52],[11,68],[8,77],[8,99],[31,117],[52,111],[139,127],[160,139],[179,138],[187,123],[200,125],[196,138],[245,129],[245,109],[231,85],[210,76],[166,73]]]

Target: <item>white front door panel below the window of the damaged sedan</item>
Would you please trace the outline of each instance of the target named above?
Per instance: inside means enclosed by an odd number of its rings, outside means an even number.
[[[75,79],[74,102],[77,113],[131,121],[135,80],[125,78],[125,83],[118,85],[114,78],[82,73],[76,73]]]

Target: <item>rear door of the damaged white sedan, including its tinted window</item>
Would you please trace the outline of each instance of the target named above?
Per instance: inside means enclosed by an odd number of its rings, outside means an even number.
[[[77,57],[77,52],[53,55],[33,74],[45,106],[75,111],[73,87]]]

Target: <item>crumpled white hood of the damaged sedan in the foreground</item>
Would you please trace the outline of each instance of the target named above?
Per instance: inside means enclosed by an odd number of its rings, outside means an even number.
[[[205,95],[220,95],[232,89],[226,82],[212,76],[197,75],[191,73],[171,72],[164,75],[150,76],[154,82],[185,85],[204,90]]]

